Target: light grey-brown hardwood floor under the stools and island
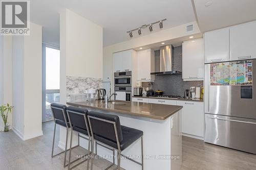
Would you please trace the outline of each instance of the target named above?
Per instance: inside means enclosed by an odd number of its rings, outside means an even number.
[[[22,141],[13,131],[0,132],[0,169],[68,169],[62,166],[63,154],[51,158],[53,126],[53,122],[42,124],[44,135],[26,141]],[[218,147],[194,138],[183,137],[182,140],[182,170],[256,169],[256,155]],[[55,144],[57,146],[57,142]],[[72,156],[86,152],[78,147]],[[95,160],[94,170],[104,169],[110,164],[103,159]],[[86,165],[85,162],[74,169],[86,169]]]

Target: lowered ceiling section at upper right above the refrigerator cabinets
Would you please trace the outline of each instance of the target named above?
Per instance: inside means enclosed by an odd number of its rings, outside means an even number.
[[[206,7],[207,2],[212,5]],[[194,0],[201,32],[256,20],[255,0]]]

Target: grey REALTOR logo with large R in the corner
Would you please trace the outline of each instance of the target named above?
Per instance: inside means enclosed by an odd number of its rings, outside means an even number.
[[[30,35],[30,1],[1,1],[1,35]]]

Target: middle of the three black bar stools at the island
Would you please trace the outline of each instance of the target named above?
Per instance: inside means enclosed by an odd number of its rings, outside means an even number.
[[[88,140],[88,153],[87,153],[87,155],[90,155],[91,135],[90,135],[89,125],[88,125],[88,118],[87,118],[88,110],[73,107],[73,106],[69,106],[69,107],[67,107],[67,113],[68,113],[69,123],[71,125],[71,137],[70,137],[70,148],[71,149],[69,151],[69,168],[68,169],[72,169],[72,168],[74,168],[74,167],[76,167],[76,166],[80,165],[81,163],[88,160],[88,159],[85,159],[85,160],[77,163],[73,167],[70,167],[70,165],[72,163],[81,159],[81,158],[77,158],[76,160],[70,162],[71,151],[72,151],[73,131],[77,132],[79,137],[82,137],[82,138]],[[87,136],[88,138],[80,136],[80,134],[83,134],[83,135]],[[78,145],[80,143],[79,142],[79,137],[78,137]],[[89,169],[89,161],[87,162],[87,169]]]

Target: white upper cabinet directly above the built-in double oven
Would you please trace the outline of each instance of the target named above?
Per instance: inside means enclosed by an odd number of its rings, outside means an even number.
[[[114,72],[133,70],[133,60],[136,52],[134,50],[126,50],[113,54]]]

